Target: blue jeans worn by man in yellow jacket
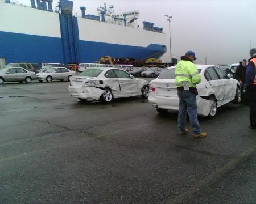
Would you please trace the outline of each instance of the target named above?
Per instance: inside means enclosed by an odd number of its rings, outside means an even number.
[[[177,95],[179,96],[180,100],[177,125],[179,130],[185,130],[185,123],[188,113],[189,122],[193,133],[201,133],[200,125],[197,119],[196,95],[189,90],[177,91]]]

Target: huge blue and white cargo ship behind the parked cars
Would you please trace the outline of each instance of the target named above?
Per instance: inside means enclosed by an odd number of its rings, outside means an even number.
[[[98,15],[73,15],[73,2],[31,0],[30,6],[0,0],[0,57],[7,63],[92,63],[102,56],[160,58],[166,36],[152,22],[137,25],[138,11],[115,14],[113,6]]]

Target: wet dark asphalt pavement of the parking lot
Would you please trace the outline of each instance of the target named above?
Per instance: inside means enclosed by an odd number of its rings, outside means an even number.
[[[176,121],[141,97],[82,103],[68,82],[3,84],[0,203],[256,203],[249,108],[199,117],[206,138]]]

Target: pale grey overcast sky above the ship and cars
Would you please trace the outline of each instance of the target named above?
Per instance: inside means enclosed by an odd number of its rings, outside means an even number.
[[[30,0],[19,0],[30,5]],[[53,7],[56,5],[53,0]],[[114,5],[116,13],[137,10],[138,23],[155,23],[166,33],[167,53],[163,61],[170,61],[169,27],[164,14],[172,16],[172,57],[180,58],[193,50],[196,63],[230,64],[248,59],[251,47],[256,47],[255,0],[73,0],[73,14],[97,14],[96,8],[104,2]]]

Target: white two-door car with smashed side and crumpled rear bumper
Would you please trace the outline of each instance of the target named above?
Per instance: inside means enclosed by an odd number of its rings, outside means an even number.
[[[86,69],[79,76],[71,78],[69,94],[79,100],[110,103],[114,98],[142,96],[148,97],[148,82],[134,78],[122,69]]]

